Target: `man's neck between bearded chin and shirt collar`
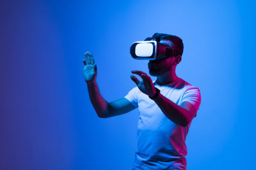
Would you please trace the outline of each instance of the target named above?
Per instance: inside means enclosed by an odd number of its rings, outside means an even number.
[[[170,69],[170,71],[167,71],[166,73],[157,76],[156,82],[159,85],[168,85],[176,81],[177,79],[178,77],[175,73],[175,69]]]

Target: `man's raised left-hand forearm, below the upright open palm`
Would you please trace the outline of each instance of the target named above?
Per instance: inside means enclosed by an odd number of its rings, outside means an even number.
[[[90,101],[100,118],[106,117],[108,113],[108,102],[101,96],[96,81],[87,82]]]

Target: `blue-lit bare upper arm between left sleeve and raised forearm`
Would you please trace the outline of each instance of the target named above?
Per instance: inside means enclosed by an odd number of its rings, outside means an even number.
[[[135,106],[133,106],[131,102],[129,102],[127,99],[125,99],[125,97],[123,97],[121,99],[108,103],[108,115],[106,115],[106,118],[122,115],[134,109]]]

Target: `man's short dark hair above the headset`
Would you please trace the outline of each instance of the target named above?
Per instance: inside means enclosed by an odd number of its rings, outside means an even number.
[[[182,56],[184,46],[183,46],[182,39],[179,38],[178,36],[156,32],[152,37],[148,37],[144,41],[150,41],[151,39],[156,39],[157,42],[159,42],[161,39],[168,39],[172,41],[173,48],[175,49],[175,56],[177,55]]]

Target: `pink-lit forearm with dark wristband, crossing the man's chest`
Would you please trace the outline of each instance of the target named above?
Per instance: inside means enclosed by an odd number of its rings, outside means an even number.
[[[162,94],[159,94],[154,101],[163,111],[164,115],[169,118],[175,124],[186,126],[188,124],[188,110],[182,108],[178,104],[173,103],[170,99],[164,97]]]

